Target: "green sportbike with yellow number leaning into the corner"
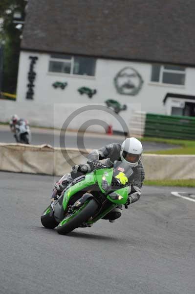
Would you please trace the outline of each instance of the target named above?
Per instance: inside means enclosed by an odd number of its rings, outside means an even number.
[[[57,202],[43,211],[43,226],[57,227],[59,234],[67,234],[78,227],[90,227],[120,204],[127,208],[128,178],[132,173],[128,164],[115,161],[112,168],[102,164],[77,177]]]

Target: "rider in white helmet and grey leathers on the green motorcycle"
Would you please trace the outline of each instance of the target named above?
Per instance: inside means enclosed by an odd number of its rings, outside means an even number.
[[[143,185],[145,172],[141,162],[143,147],[139,140],[136,138],[127,138],[122,145],[113,143],[100,149],[92,150],[87,158],[89,161],[87,164],[75,165],[70,173],[65,174],[61,180],[54,185],[54,192],[60,195],[65,187],[73,181],[74,178],[93,171],[98,165],[101,165],[99,160],[105,160],[104,165],[107,167],[113,167],[115,160],[126,163],[131,169],[130,177],[127,179],[129,185],[129,196],[127,205],[136,202],[141,196],[141,188]],[[120,169],[120,168],[119,168]],[[122,169],[120,170],[123,173]],[[125,182],[123,182],[125,180]],[[122,184],[126,183],[124,177],[120,178]],[[53,193],[51,203],[57,200],[57,195]],[[109,212],[104,219],[113,222],[121,216],[122,206],[114,208]]]

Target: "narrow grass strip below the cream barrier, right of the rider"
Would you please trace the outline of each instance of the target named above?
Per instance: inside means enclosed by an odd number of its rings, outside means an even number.
[[[195,187],[195,179],[192,180],[145,180],[146,186],[175,186],[175,187]]]

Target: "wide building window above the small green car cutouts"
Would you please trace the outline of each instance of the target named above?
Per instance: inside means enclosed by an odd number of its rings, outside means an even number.
[[[95,75],[96,59],[64,54],[51,54],[49,72],[79,75]]]

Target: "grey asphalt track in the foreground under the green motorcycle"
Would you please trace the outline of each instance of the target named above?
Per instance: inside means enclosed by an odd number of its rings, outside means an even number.
[[[194,189],[147,187],[115,223],[45,229],[50,176],[0,172],[0,294],[195,294]]]

